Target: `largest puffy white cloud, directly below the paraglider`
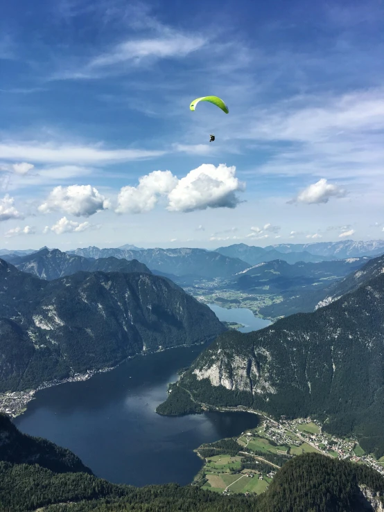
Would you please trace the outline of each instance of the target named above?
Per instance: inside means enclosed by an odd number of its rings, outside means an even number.
[[[169,193],[168,211],[195,211],[207,208],[235,208],[240,202],[237,191],[245,184],[236,177],[236,167],[202,164],[180,179]]]

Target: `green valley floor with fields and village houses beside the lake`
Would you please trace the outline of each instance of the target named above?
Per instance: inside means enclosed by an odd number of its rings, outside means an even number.
[[[246,409],[221,407],[218,410]],[[220,448],[220,441],[195,450],[204,460],[203,468],[195,477],[195,485],[225,494],[260,494],[268,488],[276,470],[284,462],[307,452],[320,452],[329,457],[367,464],[384,475],[384,457],[377,461],[372,455],[365,454],[355,439],[338,439],[322,432],[320,423],[311,418],[277,422],[263,414],[259,427],[242,432],[232,441],[238,445],[237,454],[233,448],[230,454],[226,453],[225,448]]]

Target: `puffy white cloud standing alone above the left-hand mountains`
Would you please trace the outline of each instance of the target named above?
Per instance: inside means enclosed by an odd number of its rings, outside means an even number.
[[[108,208],[110,208],[110,201],[105,199],[97,188],[91,185],[71,185],[53,188],[38,210],[41,213],[60,210],[75,215],[75,217],[89,217],[89,215]]]

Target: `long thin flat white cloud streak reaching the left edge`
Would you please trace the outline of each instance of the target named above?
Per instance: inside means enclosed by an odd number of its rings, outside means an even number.
[[[164,151],[139,149],[103,149],[101,145],[58,145],[33,141],[20,143],[10,141],[0,144],[0,159],[26,159],[42,163],[104,164],[116,161],[134,161],[164,155]]]

